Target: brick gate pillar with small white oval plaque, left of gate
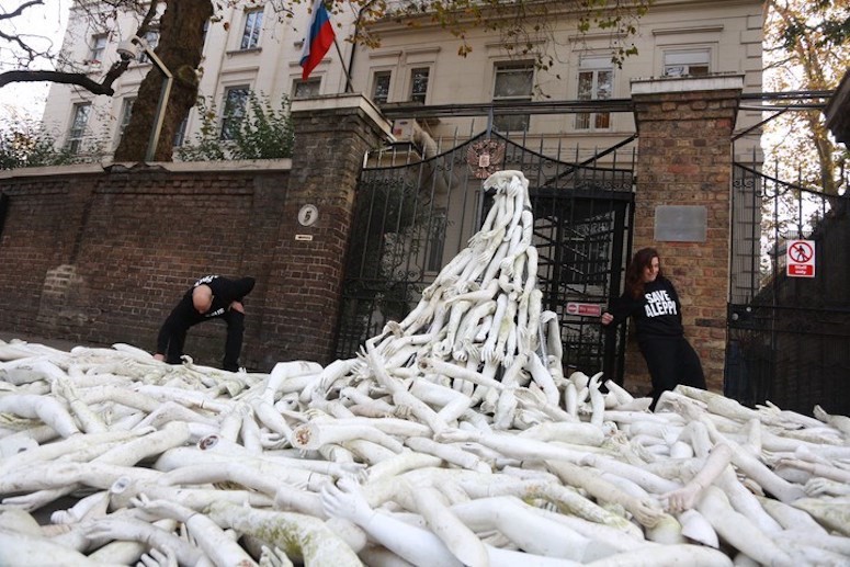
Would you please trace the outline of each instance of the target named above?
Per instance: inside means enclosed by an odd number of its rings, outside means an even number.
[[[262,313],[262,367],[332,361],[344,257],[363,158],[390,132],[361,94],[292,103],[295,146]]]

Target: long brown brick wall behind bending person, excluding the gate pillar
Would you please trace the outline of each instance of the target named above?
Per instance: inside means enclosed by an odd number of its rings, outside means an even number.
[[[246,305],[249,317],[257,313],[288,160],[262,170],[171,167],[50,168],[3,179],[9,209],[0,235],[0,328],[152,350],[159,325],[207,273],[256,276]],[[188,352],[217,364],[224,328],[219,321],[196,327]],[[256,320],[249,318],[247,329],[250,359]]]

